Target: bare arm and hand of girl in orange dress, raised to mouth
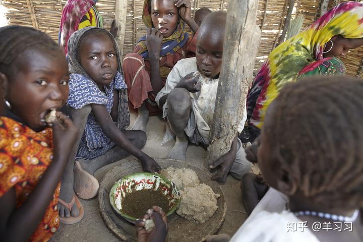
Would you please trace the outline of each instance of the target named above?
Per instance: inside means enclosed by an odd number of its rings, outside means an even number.
[[[66,115],[57,112],[57,118],[62,126],[57,123],[53,125],[54,159],[28,199],[16,208],[14,187],[0,198],[0,241],[28,240],[38,227],[39,221],[53,198],[78,133],[71,119]]]

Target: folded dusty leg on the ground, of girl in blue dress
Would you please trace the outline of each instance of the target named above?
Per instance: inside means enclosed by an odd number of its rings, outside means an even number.
[[[145,143],[146,143],[146,134],[143,131],[140,130],[125,130],[123,131],[124,135],[130,140],[130,142],[132,142],[136,147],[138,147],[139,149],[141,149],[142,147],[144,147]],[[107,155],[107,153],[105,154]],[[96,170],[98,170],[99,168],[108,165],[110,163],[113,163],[117,160],[120,159],[124,159],[125,157],[129,156],[130,153],[123,150],[123,149],[119,149],[119,152],[117,153],[116,157],[112,157],[112,158],[108,158],[104,157],[104,156],[100,156],[100,158],[94,158],[92,160],[79,160],[82,169],[86,170],[88,173],[90,173],[91,175],[94,174],[94,172]]]

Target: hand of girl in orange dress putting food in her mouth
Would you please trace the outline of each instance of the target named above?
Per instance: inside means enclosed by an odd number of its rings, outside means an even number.
[[[64,113],[57,111],[56,117],[52,126],[54,153],[69,154],[76,142],[78,129]]]

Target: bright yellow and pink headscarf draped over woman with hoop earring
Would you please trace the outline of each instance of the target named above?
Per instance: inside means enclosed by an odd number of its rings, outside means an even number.
[[[261,67],[247,97],[250,124],[262,128],[267,107],[307,65],[323,59],[323,48],[334,35],[363,38],[363,4],[346,2],[320,17],[307,30],[276,47]]]

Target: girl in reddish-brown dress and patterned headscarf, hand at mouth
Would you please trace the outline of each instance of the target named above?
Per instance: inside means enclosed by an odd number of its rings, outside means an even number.
[[[161,113],[155,97],[171,69],[188,52],[195,53],[196,36],[185,30],[185,23],[194,33],[198,25],[191,17],[189,0],[145,0],[143,21],[148,28],[146,35],[134,52],[126,55],[123,69],[129,107],[138,112],[132,129],[145,131],[149,115]]]

